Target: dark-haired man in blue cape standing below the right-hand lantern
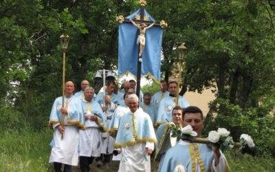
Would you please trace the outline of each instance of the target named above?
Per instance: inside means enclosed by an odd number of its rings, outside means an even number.
[[[172,109],[175,106],[185,108],[189,106],[188,101],[183,96],[178,95],[178,84],[176,81],[168,83],[169,96],[166,96],[159,103],[156,126],[170,122],[172,119]]]

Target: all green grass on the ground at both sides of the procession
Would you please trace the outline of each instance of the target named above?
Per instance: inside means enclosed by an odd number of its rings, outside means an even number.
[[[19,131],[4,131],[0,133],[0,171],[53,171],[48,163],[50,157],[50,140],[52,131],[34,132],[31,129]],[[243,155],[238,150],[225,153],[232,171],[274,171],[274,158],[269,156],[252,157]],[[93,171],[118,171],[119,162],[111,162],[101,169],[92,164]],[[152,171],[157,171],[157,164],[151,164]],[[80,171],[74,167],[73,171]]]

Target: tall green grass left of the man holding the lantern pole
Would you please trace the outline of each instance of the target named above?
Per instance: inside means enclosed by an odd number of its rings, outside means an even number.
[[[51,171],[48,164],[52,132],[32,129],[0,134],[0,171]]]

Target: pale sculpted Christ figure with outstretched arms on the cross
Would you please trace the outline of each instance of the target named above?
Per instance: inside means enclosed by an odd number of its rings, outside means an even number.
[[[151,23],[151,25],[146,25],[145,23],[135,23],[135,21],[133,21],[132,19],[130,19],[130,21],[133,23],[133,25],[135,25],[135,27],[139,28],[140,30],[140,35],[137,36],[137,44],[140,45],[140,52],[138,54],[139,57],[142,56],[142,52],[145,46],[145,32],[146,29],[151,28],[153,25],[155,25],[155,22]]]

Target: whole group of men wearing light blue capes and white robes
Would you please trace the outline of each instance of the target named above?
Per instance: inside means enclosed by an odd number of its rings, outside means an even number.
[[[172,125],[191,125],[200,137],[203,114],[177,94],[177,82],[162,80],[160,86],[153,96],[137,97],[135,80],[122,83],[120,91],[111,80],[96,95],[83,80],[74,94],[74,83],[67,81],[64,101],[56,98],[50,114],[54,170],[72,171],[79,160],[81,171],[90,171],[93,160],[100,168],[117,157],[118,171],[151,171],[151,160],[160,162],[158,171],[228,171],[218,147],[172,137]]]

